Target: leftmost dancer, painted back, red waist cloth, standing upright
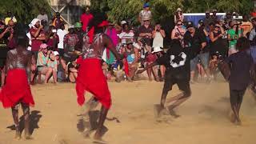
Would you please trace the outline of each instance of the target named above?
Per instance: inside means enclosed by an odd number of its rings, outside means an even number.
[[[15,138],[21,138],[18,107],[21,104],[25,120],[25,138],[30,139],[30,106],[34,106],[29,79],[31,54],[26,50],[29,39],[26,34],[18,36],[18,46],[7,53],[6,85],[2,86],[0,101],[4,108],[11,107],[16,128]]]

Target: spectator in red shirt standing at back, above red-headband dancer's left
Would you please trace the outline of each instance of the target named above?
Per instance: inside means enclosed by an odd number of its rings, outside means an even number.
[[[87,32],[87,26],[93,18],[93,14],[90,14],[90,6],[86,6],[80,17],[80,22],[82,22],[82,31]]]

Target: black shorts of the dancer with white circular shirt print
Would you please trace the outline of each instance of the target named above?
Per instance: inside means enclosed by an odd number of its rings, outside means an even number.
[[[181,76],[178,74],[170,74],[166,71],[165,83],[163,86],[163,91],[168,92],[172,90],[174,84],[178,85],[178,89],[185,93],[190,93],[190,80],[186,76]]]

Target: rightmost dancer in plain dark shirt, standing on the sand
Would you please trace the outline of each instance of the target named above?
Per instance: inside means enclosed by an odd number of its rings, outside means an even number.
[[[226,58],[226,63],[230,66],[230,104],[234,113],[231,122],[236,125],[241,125],[239,117],[240,107],[242,104],[243,95],[246,92],[250,82],[250,70],[253,66],[253,59],[246,50],[250,48],[250,41],[247,38],[238,38],[237,46],[238,53],[231,54]]]

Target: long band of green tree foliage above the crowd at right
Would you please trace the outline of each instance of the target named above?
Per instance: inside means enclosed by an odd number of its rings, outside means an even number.
[[[143,0],[93,0],[93,10],[107,11],[110,21],[129,19],[132,23],[138,23],[138,13],[142,10]],[[178,7],[184,13],[204,13],[206,10],[217,9],[219,12],[233,12],[249,14],[253,9],[250,0],[148,0],[153,19],[162,22],[174,15]]]

